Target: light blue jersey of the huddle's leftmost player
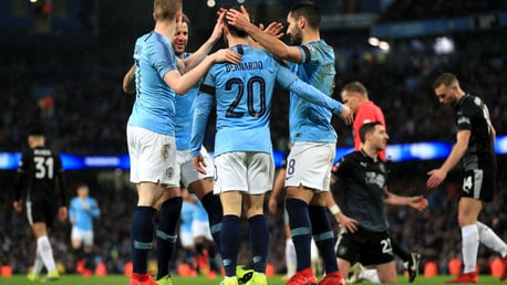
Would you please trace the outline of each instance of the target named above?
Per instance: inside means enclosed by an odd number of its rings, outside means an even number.
[[[127,125],[174,136],[175,92],[164,75],[176,70],[170,43],[152,31],[139,36],[134,49],[136,98]]]

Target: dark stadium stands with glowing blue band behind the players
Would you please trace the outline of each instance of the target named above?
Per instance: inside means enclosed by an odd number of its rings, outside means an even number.
[[[132,65],[137,36],[153,29],[152,1],[137,0],[3,0],[0,2],[0,263],[24,273],[31,265],[32,235],[24,218],[11,209],[13,169],[25,148],[31,126],[41,124],[50,145],[62,151],[70,183],[84,181],[103,207],[96,221],[97,260],[108,272],[121,272],[128,260],[128,226],[135,192],[128,182],[125,123],[134,97],[121,89]],[[299,1],[245,0],[256,23],[284,22]],[[391,136],[390,188],[402,194],[425,194],[423,213],[390,208],[392,231],[423,262],[436,262],[441,273],[459,257],[456,222],[459,168],[438,191],[428,192],[426,171],[442,163],[455,139],[453,110],[436,101],[431,82],[443,71],[454,72],[466,92],[489,106],[498,139],[498,189],[480,217],[507,240],[507,2],[501,0],[327,0],[321,36],[335,51],[335,93],[361,81],[386,116]],[[215,6],[213,6],[215,4]],[[238,1],[184,0],[190,18],[188,51],[210,33],[216,9]],[[217,48],[223,48],[218,43]],[[272,141],[277,166],[287,151],[288,96],[277,89]],[[337,157],[350,151],[350,127],[333,118],[339,133]],[[206,146],[213,151],[213,122]],[[280,209],[282,203],[280,201]],[[284,236],[281,214],[268,214],[270,260],[282,271]],[[56,260],[72,272],[69,224],[53,231]],[[244,239],[247,241],[247,238]],[[488,271],[496,255],[480,247],[479,267]],[[179,256],[178,256],[179,258]],[[248,252],[240,261],[247,263]],[[399,264],[401,268],[401,264]]]

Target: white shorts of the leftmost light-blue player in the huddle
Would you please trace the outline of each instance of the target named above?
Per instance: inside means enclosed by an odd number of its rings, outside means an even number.
[[[127,126],[127,144],[132,182],[179,186],[174,137]]]

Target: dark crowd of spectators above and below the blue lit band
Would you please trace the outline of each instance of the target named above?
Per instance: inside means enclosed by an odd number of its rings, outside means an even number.
[[[479,3],[482,1],[473,1]],[[402,13],[397,13],[402,14]],[[403,14],[405,17],[405,14]],[[466,36],[464,36],[466,38]],[[459,42],[461,46],[495,45],[494,36],[474,34]],[[474,38],[474,39],[472,39]],[[459,40],[459,39],[458,39]],[[474,45],[475,44],[475,45]],[[382,106],[389,126],[390,144],[416,142],[427,140],[454,141],[454,116],[451,109],[438,106],[431,88],[435,74],[442,71],[454,71],[463,82],[463,88],[483,95],[490,106],[492,123],[498,135],[507,133],[507,101],[505,96],[507,74],[507,53],[488,52],[475,46],[474,53],[456,53],[453,55],[420,54],[420,60],[408,61],[410,49],[393,46],[385,62],[369,61],[358,55],[339,68],[335,76],[337,91],[351,81],[365,82],[373,99]],[[73,51],[62,52],[72,57]],[[65,54],[68,53],[68,54]],[[51,145],[68,154],[104,154],[116,155],[126,152],[124,135],[125,120],[131,112],[133,98],[125,96],[120,84],[125,66],[99,67],[100,62],[90,52],[90,59],[69,64],[60,60],[59,54],[50,54],[41,64],[19,59],[3,66],[0,81],[4,88],[0,89],[0,146],[2,151],[19,151],[24,141],[25,122],[41,119],[51,134]],[[392,56],[395,54],[396,56]],[[480,63],[480,64],[478,64]],[[39,64],[39,65],[38,65]],[[341,64],[341,63],[338,63]],[[50,65],[55,72],[41,72]],[[72,66],[72,67],[70,67]],[[7,72],[8,71],[8,72]],[[39,76],[39,75],[43,76]],[[34,78],[24,80],[24,76]],[[39,78],[39,80],[35,80]],[[112,84],[114,83],[114,84]],[[40,101],[35,92],[41,85],[51,86],[53,101]],[[382,95],[379,95],[382,94]],[[279,96],[283,97],[283,96]],[[337,93],[335,98],[339,97]],[[287,109],[288,101],[275,101],[275,109]],[[344,134],[338,141],[339,146],[352,146],[352,135],[348,127],[333,122],[337,130]],[[283,151],[287,138],[287,117],[277,117],[272,123],[273,142],[278,150]],[[207,133],[213,133],[208,129]],[[207,136],[213,137],[213,136]],[[205,141],[213,146],[213,141]],[[499,157],[505,162],[504,157]],[[436,161],[438,162],[438,161]],[[428,194],[426,192],[426,171],[437,167],[435,161],[408,161],[393,163],[393,176],[390,179],[391,191],[397,194],[427,194],[428,209],[423,213],[404,209],[387,209],[391,232],[404,246],[421,252],[423,262],[435,262],[438,272],[449,273],[448,262],[461,258],[461,230],[456,223],[457,198],[461,177],[449,173],[442,190]],[[407,170],[410,169],[410,171]],[[72,171],[71,171],[72,172]],[[507,239],[507,204],[506,170],[499,163],[499,177],[495,200],[486,205],[480,220],[489,225],[503,239]],[[9,179],[12,173],[2,172],[1,189],[10,189]],[[71,173],[72,175],[72,173]],[[9,177],[9,178],[8,178]],[[102,218],[96,221],[95,245],[96,262],[106,264],[108,273],[123,273],[123,266],[130,261],[130,221],[132,207],[136,202],[135,192],[127,184],[117,189],[111,183],[94,181],[91,189],[102,208]],[[108,201],[123,201],[110,203]],[[102,207],[103,205],[103,207]],[[280,205],[279,209],[282,207]],[[25,218],[14,213],[8,191],[0,193],[0,263],[9,264],[14,273],[27,273],[33,261],[34,244],[32,233],[25,224]],[[270,229],[270,260],[277,271],[283,270],[284,235],[280,230],[281,212],[268,219]],[[241,229],[247,229],[241,224]],[[242,231],[246,232],[246,231]],[[54,224],[51,244],[58,263],[62,263],[68,272],[75,270],[75,257],[69,244],[70,225]],[[244,241],[248,236],[241,236]],[[241,249],[247,247],[245,244]],[[248,254],[238,263],[248,262]],[[153,255],[149,256],[154,258]],[[489,262],[497,255],[486,247],[478,247],[477,266],[479,273],[489,273]],[[399,272],[403,265],[396,264]]]

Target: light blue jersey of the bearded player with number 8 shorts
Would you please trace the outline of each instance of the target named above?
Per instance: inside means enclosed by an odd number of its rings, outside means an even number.
[[[301,63],[290,68],[303,82],[317,87],[328,96],[334,89],[334,51],[323,40],[299,46]],[[290,141],[335,142],[337,133],[331,125],[331,112],[290,94],[289,130]]]

